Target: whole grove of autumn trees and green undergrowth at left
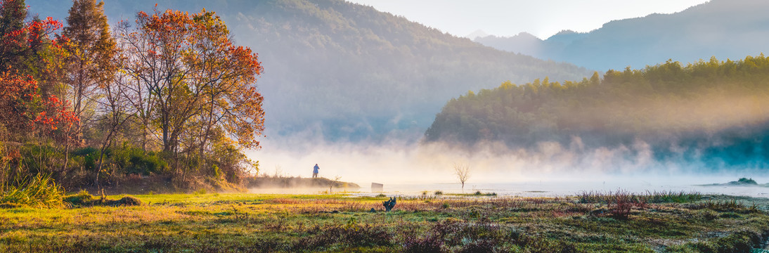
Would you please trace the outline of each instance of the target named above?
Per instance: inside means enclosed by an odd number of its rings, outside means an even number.
[[[2,1],[0,203],[31,188],[232,188],[258,169],[241,151],[264,130],[256,53],[213,12],[111,27],[103,5],[76,0],[62,25]]]

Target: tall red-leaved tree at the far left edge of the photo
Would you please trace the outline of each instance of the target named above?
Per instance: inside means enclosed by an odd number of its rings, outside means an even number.
[[[57,40],[51,38],[62,24],[37,17],[25,22],[26,15],[23,0],[0,0],[0,125],[17,136],[34,130],[36,119],[58,117],[55,114],[61,111],[48,105],[67,105],[46,92],[52,73],[57,72],[56,59],[63,55]]]

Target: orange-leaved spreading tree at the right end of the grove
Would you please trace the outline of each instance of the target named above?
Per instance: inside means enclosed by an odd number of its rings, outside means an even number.
[[[193,15],[139,12],[136,23],[137,30],[123,25],[118,32],[130,59],[123,68],[138,85],[131,89],[132,103],[143,108],[145,126],[150,120],[157,125],[163,150],[177,157],[180,136],[195,132],[204,148],[214,128],[243,147],[258,147],[255,137],[264,126],[254,84],[261,73],[257,55],[234,45],[225,23],[205,9]]]

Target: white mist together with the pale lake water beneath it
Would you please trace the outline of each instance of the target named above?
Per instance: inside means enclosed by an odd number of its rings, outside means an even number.
[[[761,168],[713,170],[703,161],[675,158],[657,161],[643,142],[616,148],[587,149],[575,138],[564,147],[542,142],[533,149],[511,149],[501,142],[473,147],[443,143],[384,141],[378,144],[295,141],[294,148],[271,140],[263,149],[251,151],[258,159],[260,174],[309,178],[312,166],[320,176],[361,185],[362,195],[371,192],[371,182],[384,184],[389,195],[420,195],[462,192],[454,175],[454,164],[469,165],[471,177],[464,192],[494,192],[516,196],[566,196],[581,191],[698,191],[703,194],[769,197],[769,188],[697,186],[727,183],[738,178],[769,182]],[[303,143],[297,145],[298,143]],[[327,189],[326,189],[327,190]],[[318,193],[323,189],[261,189],[261,193]],[[335,190],[336,191],[336,190]]]

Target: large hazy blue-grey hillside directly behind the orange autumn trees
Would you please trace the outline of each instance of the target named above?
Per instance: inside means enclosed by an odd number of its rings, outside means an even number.
[[[31,12],[64,15],[68,1],[28,1]],[[109,1],[110,22],[133,19],[153,1]],[[468,90],[540,76],[591,72],[487,48],[374,8],[338,0],[164,1],[159,9],[216,12],[235,41],[259,52],[268,138],[300,132],[327,140],[418,133],[441,105]],[[60,14],[56,14],[60,13]],[[412,135],[410,135],[412,136]]]

